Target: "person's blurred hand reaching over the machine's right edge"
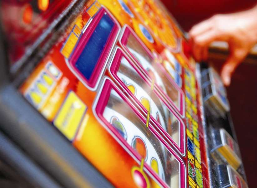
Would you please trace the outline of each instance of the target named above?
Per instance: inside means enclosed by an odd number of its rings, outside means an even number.
[[[207,60],[211,42],[228,43],[230,55],[221,70],[223,83],[228,86],[232,73],[257,42],[257,6],[243,12],[215,15],[192,27],[189,36],[197,61]]]

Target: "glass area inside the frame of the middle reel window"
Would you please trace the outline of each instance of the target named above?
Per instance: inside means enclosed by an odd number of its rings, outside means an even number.
[[[180,123],[178,119],[169,111],[166,105],[151,90],[150,86],[129,64],[124,57],[121,60],[117,76],[128,87],[132,94],[147,109],[153,118],[164,128],[172,137],[174,142],[180,146]]]

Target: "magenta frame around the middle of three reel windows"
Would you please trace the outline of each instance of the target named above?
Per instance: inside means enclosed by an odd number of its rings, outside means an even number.
[[[116,48],[115,53],[113,55],[113,61],[110,65],[110,73],[113,76],[114,80],[116,80],[123,89],[129,94],[131,98],[134,99],[137,105],[144,111],[145,115],[148,113],[147,109],[144,108],[144,106],[140,103],[140,101],[132,94],[132,92],[126,87],[126,85],[123,83],[123,81],[117,76],[118,69],[120,67],[120,62],[122,57],[126,58],[126,60],[129,62],[129,64],[136,70],[136,72],[141,76],[141,78],[151,87],[151,83],[149,80],[146,79],[146,77],[140,72],[140,70],[136,67],[134,63],[128,58],[127,55],[120,49]],[[179,139],[179,145],[172,139],[172,137],[167,133],[164,128],[154,119],[152,115],[150,115],[150,119],[154,122],[154,125],[160,130],[160,133],[167,138],[168,142],[171,143],[182,155],[185,155],[185,125],[183,121],[179,118],[177,113],[171,108],[169,105],[167,105],[167,102],[162,98],[162,96],[159,94],[159,92],[154,88],[154,93],[161,99],[161,101],[166,105],[166,107],[170,110],[170,112],[179,120],[180,122],[180,139]]]

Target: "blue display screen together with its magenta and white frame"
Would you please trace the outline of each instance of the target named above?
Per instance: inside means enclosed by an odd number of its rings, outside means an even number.
[[[91,19],[66,63],[86,87],[95,90],[117,41],[120,26],[104,7]]]

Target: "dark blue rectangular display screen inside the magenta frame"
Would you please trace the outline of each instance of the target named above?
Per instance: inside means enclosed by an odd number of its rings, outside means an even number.
[[[113,27],[113,20],[107,14],[104,14],[75,64],[87,80],[91,78]]]

